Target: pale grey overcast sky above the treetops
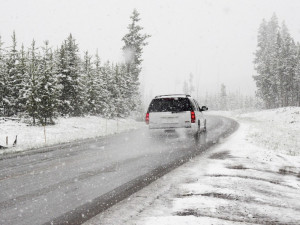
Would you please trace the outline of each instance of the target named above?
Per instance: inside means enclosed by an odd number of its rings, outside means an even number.
[[[54,47],[72,33],[81,52],[98,49],[103,61],[120,62],[122,37],[134,8],[144,32],[141,80],[146,95],[182,93],[194,75],[198,94],[230,91],[253,95],[257,30],[273,12],[300,41],[298,0],[0,0],[0,35],[5,46],[16,31],[18,45],[49,40]],[[196,93],[194,93],[196,94]]]

